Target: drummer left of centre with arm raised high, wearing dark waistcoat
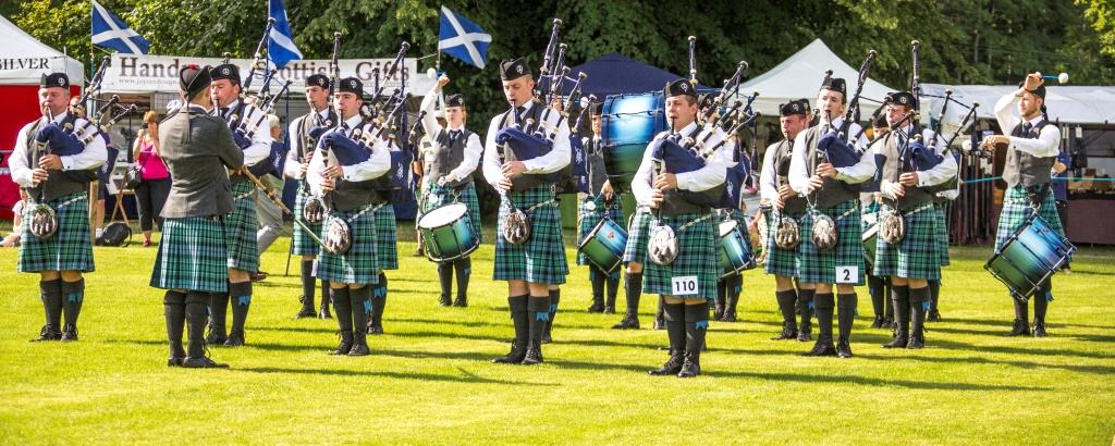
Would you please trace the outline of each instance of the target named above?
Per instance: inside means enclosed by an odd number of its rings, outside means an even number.
[[[473,185],[473,174],[484,156],[481,137],[465,128],[468,112],[464,96],[449,95],[445,98],[447,126],[438,124],[434,105],[449,77],[442,75],[437,84],[421,101],[421,125],[429,136],[429,146],[423,154],[421,211],[429,212],[438,206],[462,202],[468,206],[467,219],[474,235],[481,239],[481,207]],[[450,302],[453,275],[457,277],[457,297]],[[437,278],[442,284],[438,303],[442,307],[468,307],[468,281],[472,277],[472,260],[468,256],[437,264]]]

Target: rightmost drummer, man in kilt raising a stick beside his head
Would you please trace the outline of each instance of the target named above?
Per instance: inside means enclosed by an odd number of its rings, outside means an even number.
[[[1007,243],[1012,234],[1026,222],[1037,203],[1038,215],[1049,227],[1064,236],[1065,230],[1057,215],[1057,205],[1050,192],[1051,171],[1060,146],[1060,130],[1050,125],[1045,107],[1046,88],[1040,72],[1026,76],[1018,90],[1004,96],[995,105],[995,116],[999,128],[1011,129],[1010,136],[992,135],[983,138],[987,147],[1007,145],[1007,163],[1002,180],[1007,182],[1007,194],[1002,198],[999,214],[999,230],[995,236],[995,251]],[[1016,109],[1018,114],[1014,114]],[[1053,300],[1053,283],[1046,281],[1030,295],[1012,295],[1015,323],[1007,336],[1046,336],[1045,317]],[[1014,293],[1012,293],[1014,294]],[[1027,322],[1027,301],[1034,301],[1034,327]]]

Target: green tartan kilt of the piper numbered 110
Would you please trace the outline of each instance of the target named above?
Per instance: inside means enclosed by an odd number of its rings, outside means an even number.
[[[698,222],[679,231],[681,226],[695,221]],[[715,300],[716,282],[720,278],[720,263],[716,252],[719,237],[715,219],[711,214],[694,212],[662,216],[662,223],[672,227],[678,236],[678,256],[673,263],[665,266],[655,262],[646,263],[642,270],[643,292],[673,295],[673,278],[696,275],[697,294],[680,298]],[[651,223],[651,227],[653,226]],[[647,232],[649,240],[650,231]]]

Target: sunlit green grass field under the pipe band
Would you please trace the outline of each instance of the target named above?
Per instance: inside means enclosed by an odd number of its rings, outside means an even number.
[[[491,244],[474,255],[472,307],[446,309],[434,265],[400,243],[387,334],[369,337],[370,357],[328,356],[336,322],[292,320],[288,241],[263,255],[272,275],[256,284],[249,345],[212,349],[229,370],[165,366],[162,292],[147,287],[155,248],[96,249],[76,343],[28,342],[42,324],[38,279],[14,272],[16,250],[0,251],[0,444],[1106,445],[1115,435],[1112,249],[1082,249],[1074,272],[1056,277],[1045,339],[1001,337],[1012,312],[982,269],[990,249],[954,249],[944,321],[929,326],[927,348],[881,349],[889,332],[869,328],[861,289],[856,356],[845,360],[768,340],[780,323],[774,281],[748,271],[743,321],[714,322],[704,375],[678,379],[646,374],[666,359],[665,331],[613,331],[619,314],[584,311],[583,268],[563,288],[546,363],[491,363],[512,334]],[[643,298],[644,327],[653,301]]]

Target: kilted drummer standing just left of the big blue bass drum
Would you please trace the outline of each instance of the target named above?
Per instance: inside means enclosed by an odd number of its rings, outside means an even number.
[[[600,112],[603,103],[592,104],[592,136],[582,138],[584,152],[588,155],[589,192],[580,194],[578,209],[576,240],[583,241],[604,217],[613,222],[623,222],[623,210],[619,195],[612,191],[611,182],[604,171],[603,140],[600,138]],[[589,281],[592,282],[592,306],[590,313],[615,313],[615,294],[620,287],[619,271],[602,271],[589,262],[584,253],[576,254],[576,264],[589,265]],[[604,300],[604,285],[608,288],[608,300]]]

